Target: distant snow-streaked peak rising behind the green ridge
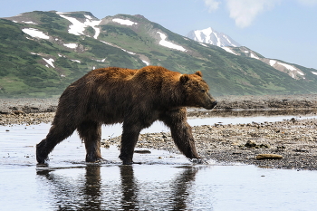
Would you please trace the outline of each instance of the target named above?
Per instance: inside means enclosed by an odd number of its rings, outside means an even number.
[[[228,35],[223,33],[218,33],[211,27],[203,30],[192,30],[187,34],[187,37],[195,40],[199,43],[209,43],[214,44],[218,47],[239,47],[239,43],[236,43]]]

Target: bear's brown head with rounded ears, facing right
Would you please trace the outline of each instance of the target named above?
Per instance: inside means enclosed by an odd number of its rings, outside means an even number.
[[[188,107],[203,107],[212,110],[217,101],[209,94],[209,86],[202,79],[201,72],[194,74],[183,74],[180,76],[180,83],[185,90],[186,105]]]

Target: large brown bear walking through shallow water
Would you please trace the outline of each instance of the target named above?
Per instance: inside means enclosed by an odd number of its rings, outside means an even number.
[[[159,66],[139,70],[117,67],[93,70],[62,93],[52,127],[36,145],[37,162],[77,129],[85,143],[86,161],[101,158],[101,125],[123,122],[120,159],[132,164],[141,129],[161,120],[178,149],[187,158],[199,158],[186,107],[211,110],[216,100],[209,94],[202,73],[181,74]]]

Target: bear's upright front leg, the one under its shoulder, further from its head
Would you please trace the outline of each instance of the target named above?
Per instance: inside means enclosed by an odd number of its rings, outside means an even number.
[[[121,137],[121,149],[119,158],[123,165],[131,165],[133,163],[134,148],[139,139],[141,127],[138,123],[123,122],[123,132]]]

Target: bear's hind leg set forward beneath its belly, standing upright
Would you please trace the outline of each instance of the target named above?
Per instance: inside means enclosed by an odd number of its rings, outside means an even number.
[[[101,160],[101,123],[92,120],[83,121],[77,130],[85,143],[86,162]]]

